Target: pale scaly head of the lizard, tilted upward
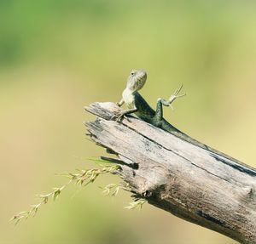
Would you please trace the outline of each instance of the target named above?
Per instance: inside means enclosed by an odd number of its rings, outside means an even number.
[[[130,76],[127,79],[127,86],[132,93],[137,92],[143,88],[147,80],[147,73],[144,70],[132,70]]]

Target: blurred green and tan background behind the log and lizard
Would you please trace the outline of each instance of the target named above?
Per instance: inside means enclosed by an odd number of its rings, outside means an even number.
[[[131,198],[102,196],[103,177],[69,187],[36,218],[15,213],[105,152],[85,136],[83,106],[118,101],[133,68],[148,71],[151,105],[177,128],[256,166],[256,3],[253,1],[0,1],[0,243],[236,243]],[[254,165],[253,165],[254,164]]]

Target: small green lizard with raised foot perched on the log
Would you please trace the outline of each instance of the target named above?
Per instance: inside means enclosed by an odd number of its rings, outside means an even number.
[[[138,118],[142,119],[144,122],[148,122],[149,124],[154,125],[154,127],[161,128],[166,132],[172,133],[172,135],[189,142],[190,144],[207,150],[215,159],[217,159],[218,161],[225,162],[230,167],[240,167],[237,165],[238,163],[244,165],[242,162],[236,160],[235,158],[228,156],[218,150],[212,149],[211,147],[197,141],[196,139],[189,137],[189,135],[181,132],[180,130],[172,126],[172,124],[166,121],[166,119],[163,117],[163,105],[171,106],[175,99],[183,97],[185,94],[179,94],[181,89],[183,88],[183,85],[177,88],[177,90],[174,92],[174,94],[172,94],[172,96],[169,99],[157,99],[156,110],[154,111],[154,109],[152,109],[151,106],[148,105],[147,101],[143,99],[143,96],[138,93],[138,91],[143,88],[146,81],[146,71],[144,71],[143,69],[131,71],[130,76],[127,79],[126,88],[122,94],[122,99],[119,101],[119,103],[117,103],[119,107],[125,104],[128,109],[119,112],[119,114],[114,115],[111,119],[115,119],[117,122],[119,122],[126,115],[134,113]],[[244,167],[242,167],[239,170],[243,171],[245,169]],[[253,170],[253,174],[254,173],[255,171]]]

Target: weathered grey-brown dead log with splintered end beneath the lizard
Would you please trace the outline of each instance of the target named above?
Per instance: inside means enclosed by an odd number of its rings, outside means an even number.
[[[110,118],[113,103],[85,108],[90,138],[119,157],[121,174],[155,207],[218,231],[241,243],[256,243],[256,170],[189,144],[137,118]]]

